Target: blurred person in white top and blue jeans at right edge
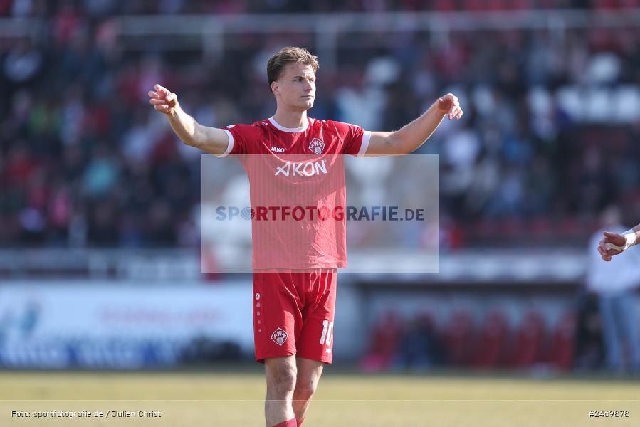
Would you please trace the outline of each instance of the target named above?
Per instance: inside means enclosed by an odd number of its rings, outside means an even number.
[[[631,249],[623,256],[604,262],[597,251],[604,230],[623,233],[619,209],[609,206],[602,212],[602,228],[589,242],[587,290],[598,297],[607,368],[614,372],[640,370],[638,299],[640,253]],[[625,357],[626,354],[626,357]],[[626,359],[626,364],[624,363]]]

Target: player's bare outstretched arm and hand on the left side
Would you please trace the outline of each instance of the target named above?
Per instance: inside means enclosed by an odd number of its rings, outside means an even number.
[[[182,142],[205,152],[219,156],[226,152],[229,137],[216,127],[202,126],[180,108],[178,98],[167,88],[155,85],[149,90],[149,103],[156,111],[167,115],[169,124]]]

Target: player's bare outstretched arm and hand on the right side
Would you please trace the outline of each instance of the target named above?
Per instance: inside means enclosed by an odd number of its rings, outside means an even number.
[[[364,155],[409,154],[429,139],[444,116],[451,120],[459,119],[462,115],[458,98],[447,93],[436,100],[429,110],[402,129],[395,132],[371,132],[369,147]]]

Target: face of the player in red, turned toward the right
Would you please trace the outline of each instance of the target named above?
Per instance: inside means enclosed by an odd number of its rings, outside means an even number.
[[[271,89],[285,106],[309,110],[315,99],[313,68],[302,63],[288,64],[280,78],[271,83]]]

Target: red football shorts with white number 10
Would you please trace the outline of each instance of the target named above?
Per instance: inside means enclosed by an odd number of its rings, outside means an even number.
[[[336,270],[253,273],[256,361],[296,354],[331,363]]]

